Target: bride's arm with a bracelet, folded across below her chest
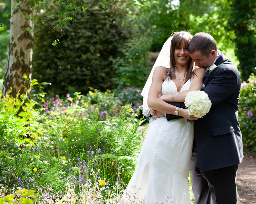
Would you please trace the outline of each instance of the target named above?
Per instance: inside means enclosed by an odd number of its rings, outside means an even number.
[[[175,94],[167,94],[160,97],[160,99],[164,101],[171,101],[171,102],[183,102],[185,101],[185,97],[190,91],[198,91],[202,88],[203,78],[205,76],[205,68],[199,67],[195,68],[195,74],[193,76],[193,80],[189,86],[188,91],[178,92]],[[172,99],[173,96],[173,99]]]

